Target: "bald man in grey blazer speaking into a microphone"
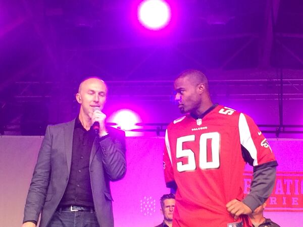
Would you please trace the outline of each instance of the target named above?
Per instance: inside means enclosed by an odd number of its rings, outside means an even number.
[[[125,175],[125,133],[107,127],[108,88],[99,78],[79,86],[79,115],[47,126],[28,191],[22,227],[113,227],[110,181]]]

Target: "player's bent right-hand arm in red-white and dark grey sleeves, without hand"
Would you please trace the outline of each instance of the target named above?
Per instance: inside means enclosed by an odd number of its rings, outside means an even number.
[[[270,196],[275,185],[278,164],[258,126],[243,113],[239,117],[239,133],[242,156],[254,166],[250,192],[243,199],[243,203],[253,211]]]

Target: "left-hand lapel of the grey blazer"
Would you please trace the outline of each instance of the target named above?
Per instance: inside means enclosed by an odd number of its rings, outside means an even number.
[[[72,151],[73,151],[73,135],[75,128],[75,119],[66,124],[64,128],[64,143],[65,143],[65,153],[66,153],[66,161],[67,161],[67,169],[70,173],[71,163],[72,163]]]

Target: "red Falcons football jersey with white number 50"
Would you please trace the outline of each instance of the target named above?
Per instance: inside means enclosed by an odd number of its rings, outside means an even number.
[[[275,160],[254,121],[221,105],[202,119],[186,115],[172,122],[165,144],[165,181],[167,185],[175,182],[178,187],[175,227],[226,227],[235,222],[226,204],[243,199],[246,162],[242,148],[248,151],[254,166]]]

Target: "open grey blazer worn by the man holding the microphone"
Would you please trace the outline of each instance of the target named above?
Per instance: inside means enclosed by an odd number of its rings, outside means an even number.
[[[47,126],[28,191],[24,219],[46,227],[56,211],[70,176],[75,120]],[[94,140],[89,174],[96,216],[100,227],[114,226],[110,181],[126,172],[125,133],[109,127],[109,136]]]

